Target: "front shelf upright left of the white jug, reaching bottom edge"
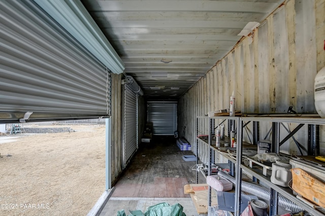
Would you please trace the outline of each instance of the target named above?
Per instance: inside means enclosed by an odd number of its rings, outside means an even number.
[[[236,149],[236,190],[235,190],[235,215],[240,215],[241,205],[241,181],[242,169],[240,167],[243,159],[243,122],[238,118],[237,124],[237,149]]]

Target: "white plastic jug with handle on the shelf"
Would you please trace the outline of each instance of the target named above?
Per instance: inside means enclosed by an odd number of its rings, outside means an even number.
[[[290,169],[291,164],[287,163],[287,161],[275,161],[272,164],[271,182],[275,185],[288,187],[288,183],[293,178]]]

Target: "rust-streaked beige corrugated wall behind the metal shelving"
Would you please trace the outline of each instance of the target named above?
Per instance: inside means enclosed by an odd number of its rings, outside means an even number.
[[[186,126],[185,138],[193,147],[196,117],[229,108],[233,90],[236,110],[241,112],[286,113],[293,106],[298,113],[315,113],[314,78],[325,66],[324,20],[324,1],[287,1],[189,89],[179,100],[179,129]],[[261,138],[270,126],[261,124]],[[286,126],[292,130],[296,124]],[[201,120],[202,133],[208,132],[207,127],[207,120]],[[244,132],[244,139],[248,140],[251,128]],[[304,133],[296,136],[298,140],[305,138]],[[292,140],[281,150],[297,154]],[[199,145],[200,158],[205,157],[205,151]]]

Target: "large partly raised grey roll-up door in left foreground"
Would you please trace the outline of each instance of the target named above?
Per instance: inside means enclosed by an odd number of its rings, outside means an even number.
[[[0,1],[0,121],[109,116],[109,72],[33,1]]]

